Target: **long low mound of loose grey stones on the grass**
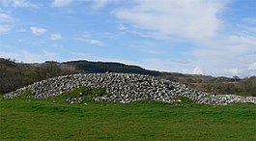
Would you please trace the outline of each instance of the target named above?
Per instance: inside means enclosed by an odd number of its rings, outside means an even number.
[[[43,99],[62,95],[80,86],[91,88],[102,87],[110,97],[94,98],[96,101],[115,101],[128,103],[135,100],[157,100],[176,103],[177,97],[192,99],[197,103],[228,104],[232,102],[256,103],[256,97],[241,97],[235,95],[209,95],[186,87],[179,82],[173,82],[149,75],[133,73],[85,73],[71,74],[49,78],[26,87],[17,89],[4,96],[12,99],[22,92],[32,90],[35,98]]]

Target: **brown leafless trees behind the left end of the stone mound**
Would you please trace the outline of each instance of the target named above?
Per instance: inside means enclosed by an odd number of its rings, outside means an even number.
[[[15,63],[11,59],[0,59],[0,94],[43,79],[75,72],[78,71],[55,62],[24,64]]]

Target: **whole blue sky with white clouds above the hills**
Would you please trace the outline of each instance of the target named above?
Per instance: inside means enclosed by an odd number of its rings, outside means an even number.
[[[0,0],[0,58],[256,75],[256,0]]]

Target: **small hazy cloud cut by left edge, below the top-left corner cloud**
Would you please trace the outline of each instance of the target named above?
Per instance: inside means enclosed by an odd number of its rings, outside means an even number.
[[[8,33],[14,26],[14,17],[0,11],[0,35]]]

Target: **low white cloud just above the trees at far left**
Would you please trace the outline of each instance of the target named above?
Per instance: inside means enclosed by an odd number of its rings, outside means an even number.
[[[12,58],[26,63],[40,63],[50,60],[56,61],[58,58],[58,54],[53,52],[43,51],[41,53],[31,53],[27,50],[20,50],[16,52],[0,51],[0,56],[3,58]]]

